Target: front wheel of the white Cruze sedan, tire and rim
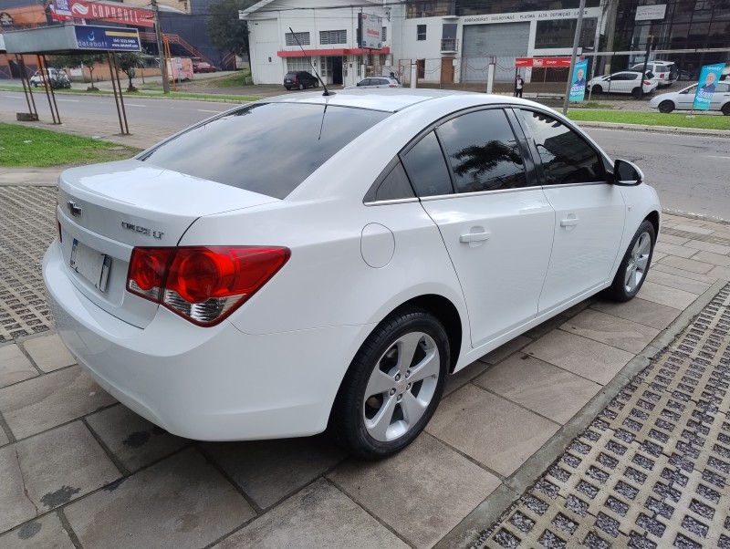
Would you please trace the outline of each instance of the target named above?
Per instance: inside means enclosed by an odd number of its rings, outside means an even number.
[[[648,239],[648,241],[642,239]],[[644,220],[633,235],[626,253],[623,254],[619,270],[616,271],[613,282],[606,289],[606,297],[613,301],[623,302],[629,301],[639,293],[641,285],[644,284],[646,275],[649,273],[649,265],[652,264],[655,243],[654,225],[652,222]],[[648,250],[646,250],[647,246]]]

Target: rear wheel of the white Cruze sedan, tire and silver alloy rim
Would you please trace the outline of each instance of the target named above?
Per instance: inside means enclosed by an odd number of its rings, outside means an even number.
[[[399,367],[402,347],[396,344],[405,337],[411,337],[411,341],[418,338],[418,344],[412,359],[406,358],[409,363]],[[433,417],[443,395],[449,360],[446,331],[434,316],[417,307],[391,313],[372,331],[352,359],[329,416],[330,435],[349,451],[368,460],[386,458],[401,451],[416,439]],[[392,378],[393,387],[369,396],[366,393],[376,368],[384,374],[383,379],[389,387]],[[411,373],[412,378],[422,375],[422,368],[432,374],[408,383]],[[425,406],[422,415],[409,424],[408,412],[401,402],[405,404],[404,399],[413,398],[428,399],[428,402],[421,402]],[[378,414],[382,410],[385,415],[388,409],[391,413],[385,416],[387,421],[379,422]],[[381,428],[392,428],[391,439],[378,440],[372,436],[377,436],[377,427],[369,428],[366,418],[374,420],[376,426],[380,423]],[[403,432],[399,433],[399,430]],[[388,439],[388,432],[383,434],[383,438]]]

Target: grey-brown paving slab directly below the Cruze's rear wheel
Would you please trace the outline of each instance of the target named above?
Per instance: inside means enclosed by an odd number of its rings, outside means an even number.
[[[460,391],[469,388],[481,391]],[[499,486],[495,475],[427,434],[389,460],[353,459],[328,477],[416,547],[433,546]]]

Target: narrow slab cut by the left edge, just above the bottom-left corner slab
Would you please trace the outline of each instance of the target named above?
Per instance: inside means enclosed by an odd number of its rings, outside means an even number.
[[[17,460],[15,446],[0,448],[0,532],[36,516],[36,506],[26,497],[24,491],[23,472]]]

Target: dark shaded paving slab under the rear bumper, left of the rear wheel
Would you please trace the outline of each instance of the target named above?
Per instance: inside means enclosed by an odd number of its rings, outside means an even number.
[[[323,436],[211,442],[203,448],[262,509],[312,482],[346,455]]]

